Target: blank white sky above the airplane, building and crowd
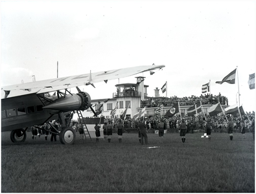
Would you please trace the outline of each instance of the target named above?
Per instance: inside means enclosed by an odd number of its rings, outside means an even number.
[[[166,67],[141,74],[148,96],[165,81],[168,97],[200,96],[211,80],[212,94],[233,105],[239,89],[255,111],[255,10],[255,1],[1,1],[1,85],[56,78],[57,61],[59,78],[155,63]],[[237,67],[239,85],[215,83]],[[111,98],[117,83],[80,88]]]

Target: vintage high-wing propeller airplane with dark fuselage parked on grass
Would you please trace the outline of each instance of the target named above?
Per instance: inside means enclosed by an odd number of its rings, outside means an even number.
[[[78,76],[68,76],[51,80],[33,81],[1,88],[1,129],[12,131],[12,142],[24,142],[26,130],[33,125],[43,125],[51,120],[60,120],[62,129],[57,135],[62,144],[73,144],[75,131],[65,125],[65,115],[71,111],[84,111],[91,107],[91,97],[78,89],[81,85],[93,85],[100,81],[114,80],[139,74],[141,72],[162,69],[165,65],[148,65],[124,69],[106,70]],[[67,89],[76,87],[77,94]],[[65,92],[61,92],[64,90]],[[56,91],[53,98],[49,92]],[[92,108],[91,108],[92,109]],[[93,111],[93,109],[92,109]]]

